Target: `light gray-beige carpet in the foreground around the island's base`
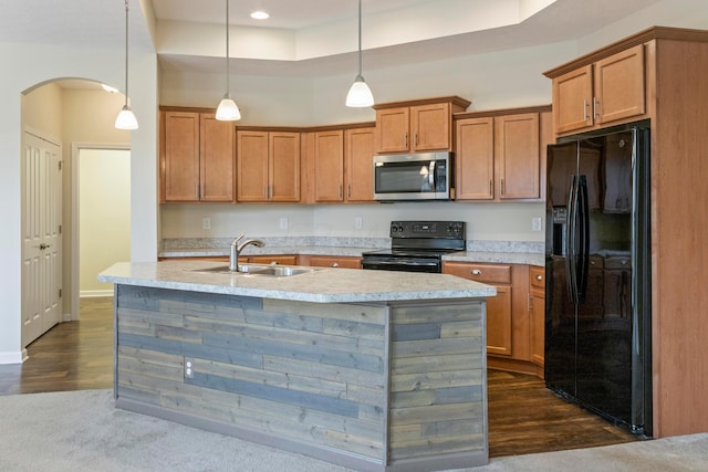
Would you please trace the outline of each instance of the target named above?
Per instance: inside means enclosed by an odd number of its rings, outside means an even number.
[[[708,471],[708,433],[493,459],[481,471]],[[112,390],[0,397],[0,471],[347,469],[114,408]]]

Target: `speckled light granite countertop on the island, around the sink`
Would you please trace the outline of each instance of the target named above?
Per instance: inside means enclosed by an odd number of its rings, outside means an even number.
[[[317,303],[475,298],[497,294],[493,286],[447,274],[313,269],[292,276],[196,272],[220,262],[171,260],[119,262],[98,281],[115,284]]]

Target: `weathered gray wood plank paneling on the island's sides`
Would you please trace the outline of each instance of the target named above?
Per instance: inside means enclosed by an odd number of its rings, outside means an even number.
[[[381,470],[487,454],[483,302],[317,304],[123,285],[117,294],[125,405]]]

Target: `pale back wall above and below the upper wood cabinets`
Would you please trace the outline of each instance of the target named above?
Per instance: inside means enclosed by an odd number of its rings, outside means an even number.
[[[607,24],[579,41],[470,54],[457,59],[369,70],[364,76],[377,103],[459,95],[472,102],[469,111],[487,111],[551,103],[551,81],[544,71],[571,61],[654,24],[708,29],[705,0],[665,0]],[[368,122],[373,109],[344,106],[353,80],[348,75],[324,76],[312,83],[298,77],[259,77],[232,71],[231,95],[243,113],[242,125],[317,126]],[[223,77],[208,74],[165,72],[160,103],[214,107],[220,98]],[[238,125],[237,125],[238,126]],[[439,211],[442,210],[442,211]],[[543,241],[543,232],[531,231],[531,219],[545,218],[542,203],[413,203],[395,206],[163,206],[163,238],[227,238],[241,230],[250,234],[283,235],[387,235],[388,222],[397,218],[459,219],[469,223],[468,239]],[[202,230],[201,219],[212,218],[212,229]],[[278,222],[288,217],[290,228]],[[364,228],[354,229],[362,217]],[[293,219],[299,223],[293,227]],[[312,228],[308,228],[312,224]]]

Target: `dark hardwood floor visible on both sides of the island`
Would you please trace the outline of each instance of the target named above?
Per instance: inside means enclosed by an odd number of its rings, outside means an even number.
[[[24,364],[0,365],[0,395],[113,388],[113,298],[82,298],[81,321],[55,326],[28,353]],[[533,376],[490,369],[488,394],[492,458],[636,440]]]

